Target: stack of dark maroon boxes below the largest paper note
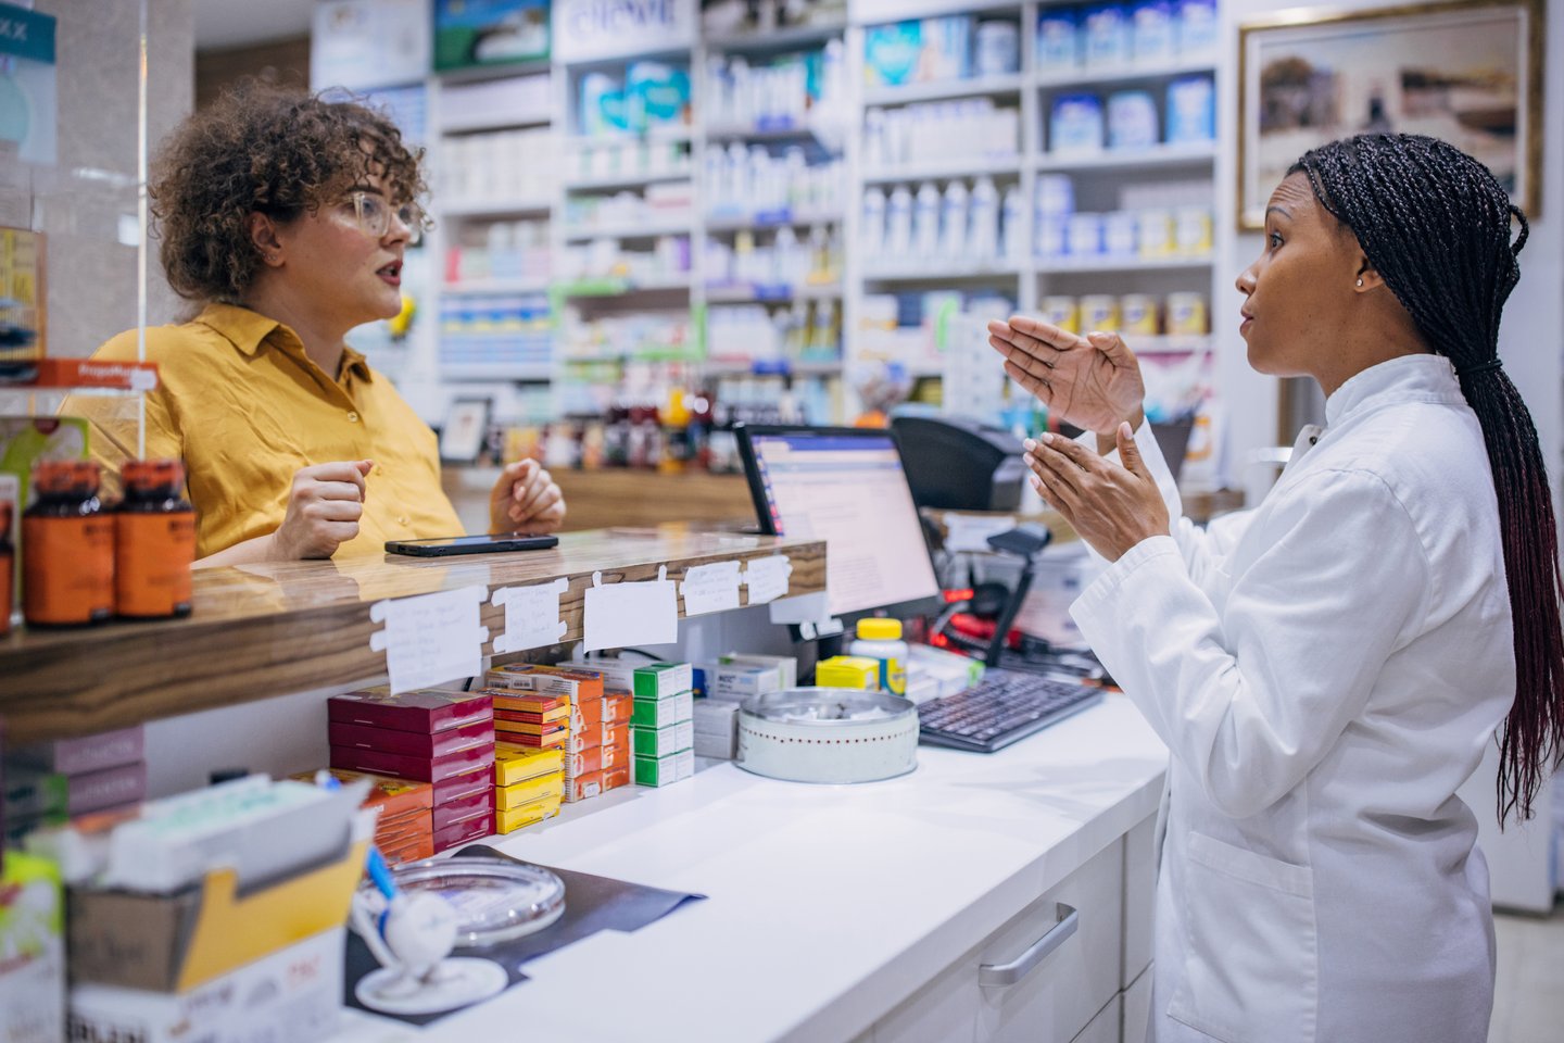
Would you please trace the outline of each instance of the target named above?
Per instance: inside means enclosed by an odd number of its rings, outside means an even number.
[[[494,701],[485,691],[369,688],[328,701],[332,768],[432,787],[433,849],[490,835],[494,824]]]

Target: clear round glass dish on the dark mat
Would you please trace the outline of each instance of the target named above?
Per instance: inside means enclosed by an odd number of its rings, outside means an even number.
[[[457,948],[482,949],[565,915],[565,882],[508,858],[425,858],[391,871],[399,888],[433,891],[457,910]]]

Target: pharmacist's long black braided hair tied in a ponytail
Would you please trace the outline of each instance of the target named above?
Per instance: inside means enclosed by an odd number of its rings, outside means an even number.
[[[1498,321],[1520,280],[1526,216],[1481,163],[1420,134],[1361,134],[1292,167],[1358,236],[1368,263],[1455,363],[1483,425],[1516,625],[1516,702],[1500,732],[1498,821],[1531,801],[1564,760],[1564,630],[1558,538],[1531,413],[1498,360]],[[1511,242],[1511,220],[1520,233]]]

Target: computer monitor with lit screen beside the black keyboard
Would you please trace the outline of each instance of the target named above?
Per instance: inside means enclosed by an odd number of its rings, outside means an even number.
[[[938,596],[918,508],[890,432],[856,428],[744,430],[762,529],[826,541],[832,616]]]

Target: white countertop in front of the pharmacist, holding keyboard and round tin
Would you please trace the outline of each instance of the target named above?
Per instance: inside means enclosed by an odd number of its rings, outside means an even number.
[[[1110,694],[995,755],[920,746],[887,782],[715,763],[566,805],[494,846],[707,901],[532,960],[530,982],[427,1029],[349,1010],[338,1038],[849,1040],[1153,815],[1165,766]]]

